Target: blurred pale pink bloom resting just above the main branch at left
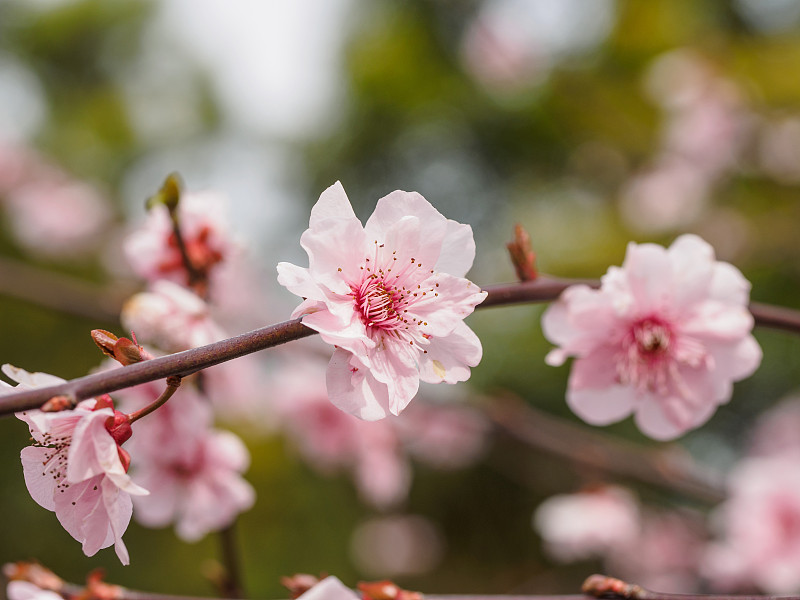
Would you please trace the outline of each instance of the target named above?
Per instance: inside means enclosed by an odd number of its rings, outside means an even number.
[[[165,352],[196,348],[226,337],[209,305],[171,281],[156,281],[150,291],[132,296],[122,307],[120,319],[140,342]]]

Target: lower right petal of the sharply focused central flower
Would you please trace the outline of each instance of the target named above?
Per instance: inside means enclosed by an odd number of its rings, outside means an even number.
[[[457,383],[466,381],[470,367],[476,366],[483,355],[478,336],[461,322],[443,338],[431,338],[419,357],[419,377],[427,383]]]

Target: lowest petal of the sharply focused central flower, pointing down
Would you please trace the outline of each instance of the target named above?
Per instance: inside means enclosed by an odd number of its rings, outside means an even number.
[[[334,406],[359,419],[383,419],[389,411],[389,390],[363,364],[353,359],[345,350],[333,351],[326,375],[328,398]]]

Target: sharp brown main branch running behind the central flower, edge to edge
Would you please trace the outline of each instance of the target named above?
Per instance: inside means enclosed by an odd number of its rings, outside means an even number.
[[[484,290],[488,292],[488,297],[478,308],[522,302],[552,301],[558,298],[567,287],[577,283],[598,285],[596,280],[539,276],[534,281],[487,286]],[[800,311],[763,304],[752,305],[751,311],[757,325],[800,334]],[[54,396],[67,396],[78,401],[140,383],[164,379],[170,375],[185,377],[201,369],[315,333],[305,327],[300,319],[284,321],[243,333],[234,338],[162,356],[122,369],[86,375],[59,385],[12,392],[0,399],[0,415],[38,408]]]

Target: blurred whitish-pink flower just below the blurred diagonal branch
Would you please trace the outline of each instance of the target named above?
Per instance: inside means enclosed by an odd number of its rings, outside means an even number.
[[[602,557],[639,534],[639,504],[629,491],[615,486],[559,494],[539,505],[533,526],[556,560]]]

